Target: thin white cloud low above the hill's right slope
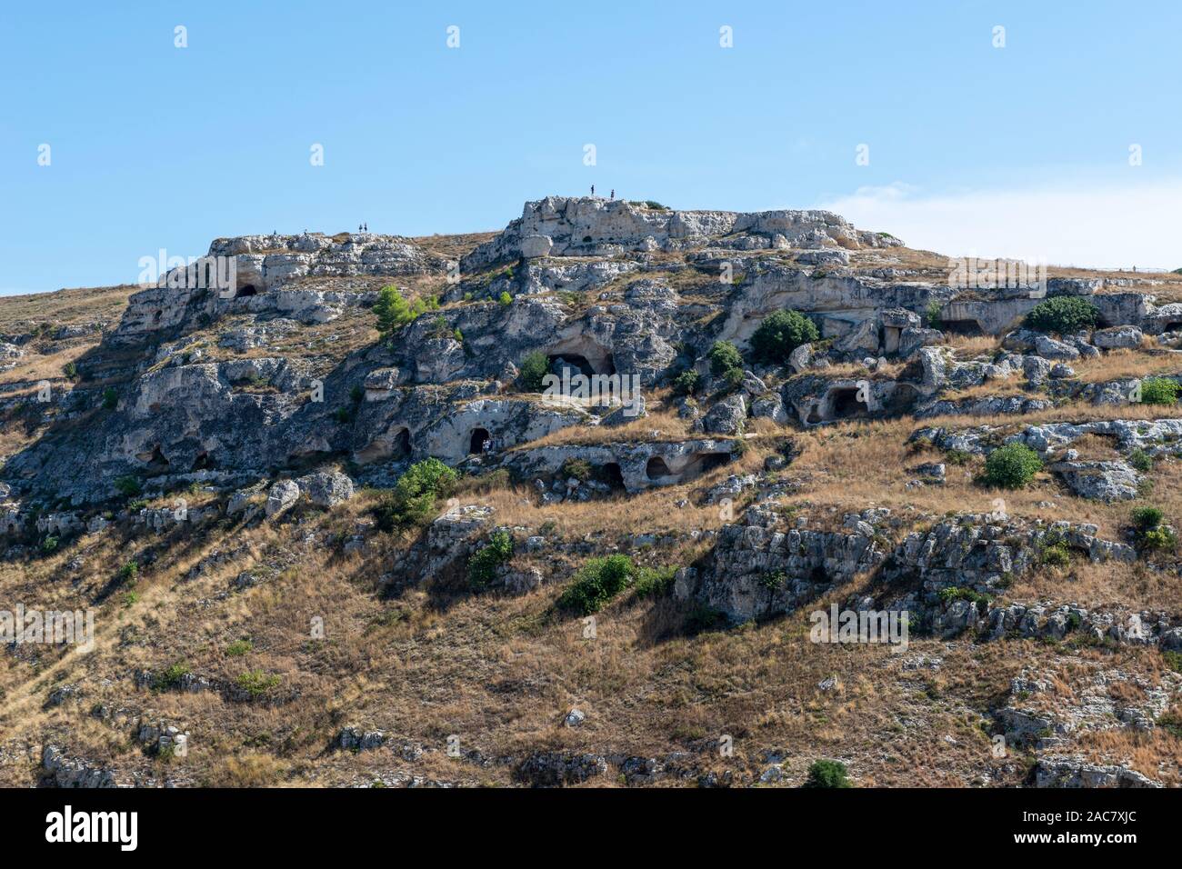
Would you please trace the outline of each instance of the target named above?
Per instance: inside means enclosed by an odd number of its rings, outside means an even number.
[[[823,202],[859,229],[950,257],[1091,268],[1182,267],[1182,179],[924,194],[902,182]]]

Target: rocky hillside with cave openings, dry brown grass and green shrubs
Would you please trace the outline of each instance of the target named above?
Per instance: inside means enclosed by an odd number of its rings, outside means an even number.
[[[0,611],[93,617],[9,617],[0,784],[1182,784],[1182,275],[566,197],[208,255],[0,299]]]

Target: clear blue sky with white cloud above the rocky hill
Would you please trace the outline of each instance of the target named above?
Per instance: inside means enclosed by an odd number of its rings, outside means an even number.
[[[1165,0],[6,4],[0,293],[132,283],[220,235],[496,229],[591,183],[1174,268],[1178,33]]]

